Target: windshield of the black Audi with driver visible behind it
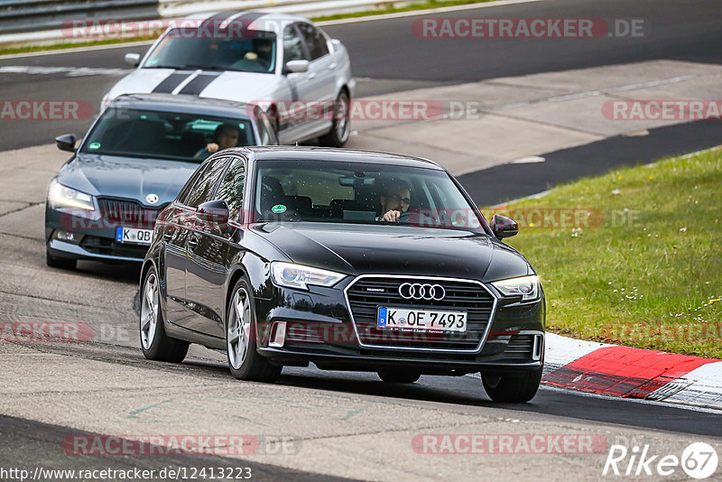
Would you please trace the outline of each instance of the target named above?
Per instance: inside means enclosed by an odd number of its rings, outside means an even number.
[[[310,221],[442,227],[483,232],[445,171],[364,162],[259,162],[255,215]]]

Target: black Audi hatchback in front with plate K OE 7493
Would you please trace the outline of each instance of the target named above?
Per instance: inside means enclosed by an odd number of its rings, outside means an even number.
[[[527,260],[448,171],[424,159],[247,147],[200,165],[160,213],[141,274],[153,360],[190,343],[238,379],[283,366],[376,372],[384,382],[480,373],[496,401],[542,378],[545,302]]]

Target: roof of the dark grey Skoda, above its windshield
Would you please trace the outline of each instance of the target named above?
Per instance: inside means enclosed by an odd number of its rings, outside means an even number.
[[[255,108],[245,102],[171,94],[125,94],[110,106],[239,119],[251,119]]]

